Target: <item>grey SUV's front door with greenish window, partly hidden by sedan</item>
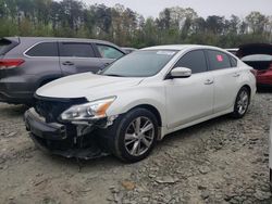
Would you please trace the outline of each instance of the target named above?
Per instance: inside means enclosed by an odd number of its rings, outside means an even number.
[[[96,43],[96,51],[100,56],[100,61],[103,65],[103,68],[114,62],[115,60],[125,55],[124,52],[109,44]]]

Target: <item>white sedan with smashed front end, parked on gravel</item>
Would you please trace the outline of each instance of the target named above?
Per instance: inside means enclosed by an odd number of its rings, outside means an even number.
[[[256,93],[252,68],[208,46],[133,52],[98,75],[54,80],[36,92],[25,124],[42,150],[66,157],[145,158],[158,140],[225,114],[243,117]]]

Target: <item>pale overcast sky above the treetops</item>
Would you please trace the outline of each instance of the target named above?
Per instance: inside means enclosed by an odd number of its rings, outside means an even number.
[[[265,15],[272,15],[272,0],[82,0],[87,4],[103,3],[113,7],[116,3],[131,8],[143,14],[145,17],[159,15],[164,8],[182,7],[193,8],[198,15],[207,17],[208,15],[231,14],[244,17],[251,11],[259,11]]]

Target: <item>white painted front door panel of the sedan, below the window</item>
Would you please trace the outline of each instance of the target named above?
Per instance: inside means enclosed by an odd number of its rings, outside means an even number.
[[[205,85],[208,79],[213,80],[209,72],[164,81],[169,129],[212,114],[213,85]]]

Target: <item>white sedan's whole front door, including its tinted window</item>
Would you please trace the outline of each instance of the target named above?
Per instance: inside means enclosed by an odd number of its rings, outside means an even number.
[[[209,116],[213,110],[213,77],[207,72],[203,51],[186,53],[175,67],[190,68],[193,75],[165,80],[169,129]]]

